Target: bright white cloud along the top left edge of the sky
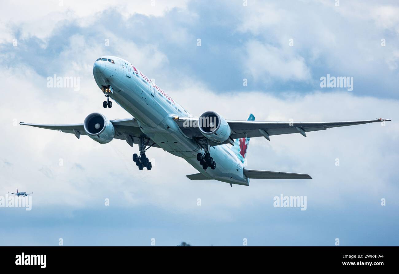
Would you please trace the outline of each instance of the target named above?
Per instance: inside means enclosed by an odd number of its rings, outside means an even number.
[[[80,0],[38,0],[24,3],[9,1],[2,3],[2,18],[0,30],[8,33],[3,40],[10,42],[13,28],[18,27],[21,38],[36,36],[46,40],[55,30],[65,22],[76,22],[79,26],[90,26],[99,18],[112,21],[115,18],[105,18],[102,12],[115,9],[124,19],[133,14],[145,16],[164,16],[173,8],[185,9],[188,0],[152,0],[152,1],[80,1]],[[21,7],[23,5],[23,7]],[[18,11],[18,16],[16,16]],[[2,32],[3,33],[3,32]],[[15,35],[15,34],[14,34]]]

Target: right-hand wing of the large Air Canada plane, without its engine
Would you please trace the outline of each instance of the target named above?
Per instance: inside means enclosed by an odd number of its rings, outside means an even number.
[[[191,122],[190,122],[191,120]],[[193,124],[194,120],[198,118],[179,118],[178,124],[184,134],[190,138],[202,138],[203,135],[198,127],[185,127],[184,124]],[[344,121],[344,122],[258,122],[258,121],[240,121],[240,120],[226,120],[231,128],[231,138],[245,138],[245,137],[265,137],[270,141],[272,135],[300,133],[306,137],[306,132],[326,130],[327,128],[336,128],[339,126],[354,126],[358,124],[368,124],[374,122],[391,121],[388,119],[378,118],[373,120],[360,121]],[[186,123],[185,123],[186,122]],[[196,123],[194,123],[196,124]],[[198,124],[198,123],[197,123]],[[222,144],[227,144],[229,141]],[[220,145],[208,142],[209,145]]]

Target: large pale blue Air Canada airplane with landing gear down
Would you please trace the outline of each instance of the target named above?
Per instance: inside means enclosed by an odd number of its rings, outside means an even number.
[[[93,66],[94,79],[107,97],[104,108],[117,102],[134,118],[108,120],[103,114],[89,114],[83,124],[20,124],[81,134],[101,144],[122,139],[140,154],[133,161],[140,170],[151,170],[146,157],[150,147],[184,158],[199,173],[187,175],[192,180],[215,179],[238,185],[249,185],[249,179],[312,179],[308,174],[244,168],[245,155],[251,137],[326,130],[338,126],[352,126],[390,121],[382,118],[352,122],[255,122],[251,114],[246,121],[226,120],[217,112],[204,112],[194,118],[185,108],[128,61],[114,56],[103,56]],[[227,144],[233,145],[231,149]]]

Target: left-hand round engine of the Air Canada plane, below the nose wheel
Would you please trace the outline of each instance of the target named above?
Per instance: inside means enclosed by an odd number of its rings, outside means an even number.
[[[83,128],[90,138],[100,144],[107,144],[115,137],[114,125],[101,113],[87,115]]]

